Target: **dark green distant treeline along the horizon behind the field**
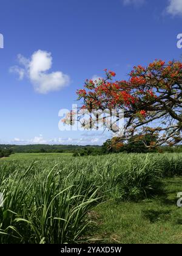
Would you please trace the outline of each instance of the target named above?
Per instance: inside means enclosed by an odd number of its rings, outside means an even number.
[[[110,140],[107,140],[103,146],[76,146],[76,145],[5,145],[0,144],[0,158],[8,157],[12,153],[73,153],[73,156],[84,155],[105,155],[118,152],[124,153],[148,153],[148,152],[182,152],[182,145],[178,146],[160,146],[156,149],[149,149],[141,141],[131,141],[121,147],[109,147]]]

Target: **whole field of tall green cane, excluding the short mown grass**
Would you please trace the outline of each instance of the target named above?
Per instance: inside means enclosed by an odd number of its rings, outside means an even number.
[[[2,160],[0,243],[79,243],[96,204],[150,196],[181,174],[181,154]]]

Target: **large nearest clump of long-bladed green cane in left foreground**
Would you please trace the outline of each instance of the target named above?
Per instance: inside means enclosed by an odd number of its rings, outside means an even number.
[[[87,212],[99,200],[98,187],[75,171],[65,173],[61,163],[45,169],[36,163],[25,166],[1,173],[0,243],[78,242]]]

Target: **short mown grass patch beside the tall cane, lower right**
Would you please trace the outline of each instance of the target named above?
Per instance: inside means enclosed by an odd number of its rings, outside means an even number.
[[[182,243],[182,177],[166,178],[163,193],[139,202],[106,202],[95,207],[90,237],[100,243]]]

